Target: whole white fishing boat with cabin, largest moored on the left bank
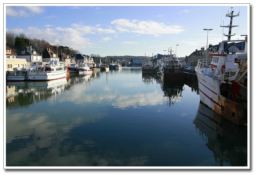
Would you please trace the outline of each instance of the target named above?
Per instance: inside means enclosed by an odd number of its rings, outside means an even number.
[[[58,60],[50,61],[40,70],[28,72],[28,80],[56,80],[67,77],[67,69]]]

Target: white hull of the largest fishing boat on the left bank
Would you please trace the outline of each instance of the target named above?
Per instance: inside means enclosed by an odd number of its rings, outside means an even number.
[[[67,77],[67,70],[61,72],[30,72],[28,80],[56,80]]]

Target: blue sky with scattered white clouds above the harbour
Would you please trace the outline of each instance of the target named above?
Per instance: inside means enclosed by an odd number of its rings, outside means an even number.
[[[203,28],[213,29],[208,44],[222,41],[220,25],[229,25],[225,14],[230,7],[235,14],[239,12],[239,17],[233,18],[233,25],[239,27],[232,29],[236,35],[231,39],[243,39],[240,35],[250,29],[248,4],[35,5],[5,4],[6,31],[65,45],[85,55],[152,56],[167,54],[171,47],[178,57],[189,56],[206,47]]]

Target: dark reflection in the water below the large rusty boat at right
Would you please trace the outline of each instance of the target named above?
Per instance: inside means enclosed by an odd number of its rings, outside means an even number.
[[[219,166],[247,166],[247,127],[239,127],[199,103],[196,131]]]

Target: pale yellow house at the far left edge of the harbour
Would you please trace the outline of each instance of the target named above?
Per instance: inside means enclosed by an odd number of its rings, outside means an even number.
[[[27,66],[27,60],[24,58],[16,58],[17,54],[6,45],[6,71],[13,71],[14,67],[23,68]]]

